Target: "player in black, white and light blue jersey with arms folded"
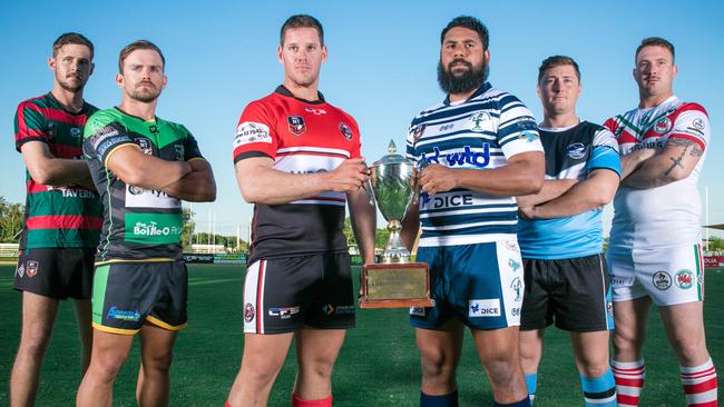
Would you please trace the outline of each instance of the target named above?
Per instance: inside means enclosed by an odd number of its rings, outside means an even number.
[[[601,126],[576,113],[580,70],[569,57],[554,56],[538,68],[538,125],[546,151],[540,192],[518,197],[518,242],[526,291],[520,315],[520,359],[531,403],[546,327],[570,332],[586,406],[615,406],[608,360],[613,328],[608,272],[603,258],[603,207],[620,176],[618,143]]]

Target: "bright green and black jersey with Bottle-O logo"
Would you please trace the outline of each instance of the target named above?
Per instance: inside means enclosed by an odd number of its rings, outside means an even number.
[[[124,147],[138,147],[164,160],[203,159],[188,130],[159,118],[145,121],[118,108],[88,119],[84,152],[100,192],[104,227],[96,265],[119,261],[182,259],[182,202],[160,190],[126,185],[108,168],[108,158]]]

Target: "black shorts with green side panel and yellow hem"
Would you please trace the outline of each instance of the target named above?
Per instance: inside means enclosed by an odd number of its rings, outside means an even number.
[[[144,322],[167,330],[186,327],[188,274],[183,261],[115,262],[96,268],[92,326],[136,334]]]

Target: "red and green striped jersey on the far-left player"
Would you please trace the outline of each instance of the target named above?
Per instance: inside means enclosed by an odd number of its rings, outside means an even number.
[[[65,110],[51,93],[20,102],[16,113],[16,149],[41,141],[56,158],[84,159],[82,131],[96,107],[84,102],[78,113]],[[26,169],[28,196],[20,249],[98,246],[102,207],[96,191],[36,182]]]

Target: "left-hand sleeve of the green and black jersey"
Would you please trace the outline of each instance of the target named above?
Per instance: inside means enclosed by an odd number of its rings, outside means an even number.
[[[137,147],[126,129],[117,121],[107,120],[101,115],[94,115],[86,123],[82,148],[88,159],[97,159],[106,167],[114,151],[126,145]]]

